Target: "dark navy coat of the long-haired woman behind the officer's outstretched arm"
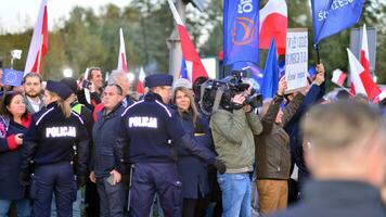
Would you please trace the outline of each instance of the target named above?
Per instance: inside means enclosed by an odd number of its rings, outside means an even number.
[[[209,125],[204,117],[198,117],[195,126],[192,115],[182,113],[180,115],[183,129],[194,137],[198,144],[210,149],[213,144]],[[182,197],[204,197],[209,192],[208,171],[206,163],[197,156],[192,155],[181,145],[178,146],[178,173],[182,182]]]

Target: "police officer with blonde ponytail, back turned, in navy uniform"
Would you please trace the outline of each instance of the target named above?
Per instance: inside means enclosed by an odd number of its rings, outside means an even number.
[[[70,89],[60,81],[48,80],[44,91],[46,108],[33,116],[30,128],[24,137],[21,180],[28,182],[28,167],[33,161],[30,197],[35,217],[49,217],[52,194],[55,194],[57,216],[70,217],[78,184],[86,180],[88,135],[83,122],[64,102]],[[78,157],[75,162],[74,148]]]

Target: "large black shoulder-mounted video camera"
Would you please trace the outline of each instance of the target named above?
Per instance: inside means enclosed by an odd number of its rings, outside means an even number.
[[[222,108],[232,111],[240,110],[244,105],[258,107],[262,105],[262,95],[255,89],[246,97],[244,104],[232,102],[232,98],[249,88],[245,71],[233,71],[230,76],[220,80],[209,79],[201,86],[201,110],[209,115],[220,105]]]

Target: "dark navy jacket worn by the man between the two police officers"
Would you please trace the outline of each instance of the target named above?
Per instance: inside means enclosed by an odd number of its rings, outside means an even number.
[[[108,177],[116,167],[114,154],[115,139],[119,133],[120,115],[125,107],[119,103],[111,113],[105,108],[98,113],[98,119],[92,128],[91,169],[97,178]]]

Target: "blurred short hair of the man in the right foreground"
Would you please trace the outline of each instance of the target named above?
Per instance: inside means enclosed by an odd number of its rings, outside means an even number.
[[[379,111],[348,102],[318,105],[301,120],[305,142],[327,152],[363,145],[384,127]]]

